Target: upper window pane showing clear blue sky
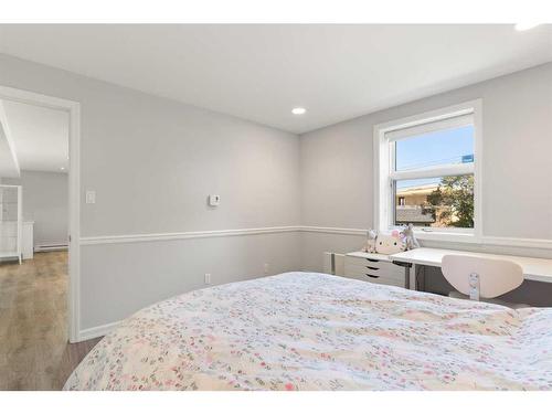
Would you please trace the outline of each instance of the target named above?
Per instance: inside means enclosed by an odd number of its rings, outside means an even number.
[[[466,162],[474,162],[473,125],[395,141],[395,171]]]

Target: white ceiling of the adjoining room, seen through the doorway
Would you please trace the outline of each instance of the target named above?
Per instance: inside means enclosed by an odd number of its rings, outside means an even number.
[[[0,100],[12,150],[20,170],[67,172],[68,114],[63,110]],[[0,157],[7,157],[0,148]],[[0,177],[13,177],[4,172]],[[15,176],[19,177],[19,173]]]

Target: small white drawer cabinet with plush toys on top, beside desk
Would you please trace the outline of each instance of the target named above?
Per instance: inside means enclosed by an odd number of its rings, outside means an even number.
[[[389,256],[364,252],[348,253],[344,276],[380,285],[407,287],[405,268],[394,265]]]

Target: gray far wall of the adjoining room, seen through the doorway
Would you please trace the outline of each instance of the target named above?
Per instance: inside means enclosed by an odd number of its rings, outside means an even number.
[[[2,180],[23,188],[23,220],[34,221],[34,245],[67,244],[68,182],[66,173],[21,171]]]

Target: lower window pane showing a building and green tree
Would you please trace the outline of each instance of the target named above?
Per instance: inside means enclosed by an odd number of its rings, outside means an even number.
[[[474,176],[397,180],[394,225],[474,227]]]

